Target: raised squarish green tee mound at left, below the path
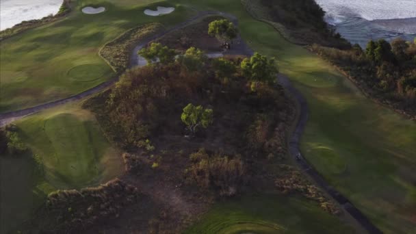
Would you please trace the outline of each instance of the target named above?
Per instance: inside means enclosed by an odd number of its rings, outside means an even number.
[[[86,110],[60,107],[25,118],[17,126],[55,187],[84,187],[112,179],[122,170],[119,153]]]

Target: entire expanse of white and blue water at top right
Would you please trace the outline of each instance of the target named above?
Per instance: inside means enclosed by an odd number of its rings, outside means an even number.
[[[416,0],[315,0],[325,20],[352,44],[416,38]]]

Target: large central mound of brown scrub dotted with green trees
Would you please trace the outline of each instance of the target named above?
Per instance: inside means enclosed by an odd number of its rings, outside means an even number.
[[[274,60],[257,53],[248,60],[211,60],[195,48],[174,56],[159,43],[139,53],[153,63],[127,71],[111,92],[86,104],[116,144],[131,153],[160,155],[167,144],[161,139],[166,135],[212,142],[198,147],[179,145],[190,155],[182,169],[187,171],[188,181],[201,190],[216,191],[218,196],[241,191],[244,177],[252,173],[245,166],[251,157],[285,157],[287,124],[293,110],[283,90],[271,81],[277,72],[272,68]],[[166,59],[156,62],[156,55]],[[262,74],[273,78],[257,77],[258,67],[268,68]],[[132,158],[127,157],[129,168],[137,163]],[[164,159],[156,158],[149,167],[163,166]]]

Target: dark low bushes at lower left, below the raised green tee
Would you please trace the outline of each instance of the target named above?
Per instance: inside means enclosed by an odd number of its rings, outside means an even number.
[[[114,179],[99,187],[58,190],[49,194],[38,215],[40,233],[74,233],[105,218],[116,218],[120,211],[138,201],[138,189]]]

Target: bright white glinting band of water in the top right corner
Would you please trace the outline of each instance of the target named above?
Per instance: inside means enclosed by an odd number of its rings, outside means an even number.
[[[339,23],[358,16],[376,19],[414,18],[416,0],[315,0],[327,13],[328,23]]]

